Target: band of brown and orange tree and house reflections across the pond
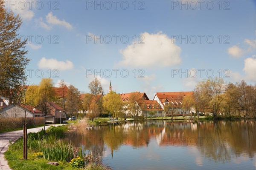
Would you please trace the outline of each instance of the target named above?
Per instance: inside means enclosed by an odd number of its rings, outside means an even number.
[[[134,121],[78,129],[70,133],[70,139],[76,146],[83,144],[100,157],[107,148],[113,156],[113,151],[122,146],[148,147],[150,141],[155,140],[160,146],[195,147],[209,160],[226,162],[232,155],[243,153],[253,158],[256,152],[255,129],[255,121],[243,120]]]

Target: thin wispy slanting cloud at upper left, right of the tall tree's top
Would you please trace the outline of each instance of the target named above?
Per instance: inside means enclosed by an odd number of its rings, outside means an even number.
[[[52,29],[52,26],[54,25],[64,26],[67,29],[73,29],[73,26],[70,23],[66,22],[65,20],[58,19],[55,15],[52,14],[52,12],[47,14],[46,21],[40,17],[38,20],[36,20],[36,22],[38,26],[47,30]]]

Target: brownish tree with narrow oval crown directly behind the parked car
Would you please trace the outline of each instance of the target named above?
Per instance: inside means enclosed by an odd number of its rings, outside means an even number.
[[[80,102],[80,91],[73,85],[69,86],[69,91],[67,93],[67,104],[66,109],[71,115],[76,112],[76,117],[78,113],[78,107]]]

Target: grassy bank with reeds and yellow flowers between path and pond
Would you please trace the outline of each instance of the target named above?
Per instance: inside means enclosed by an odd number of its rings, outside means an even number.
[[[23,160],[23,138],[10,144],[5,152],[5,158],[13,170],[79,170],[76,166],[77,156],[81,156],[82,169],[106,170],[108,167],[96,161],[87,161],[88,155],[75,148],[66,138],[67,126],[49,127],[38,133],[28,134],[28,159]],[[92,157],[92,155],[91,155]],[[84,158],[84,159],[83,159]],[[94,160],[90,158],[90,160]],[[47,164],[49,161],[58,162],[59,165]],[[70,163],[71,162],[71,163]]]

